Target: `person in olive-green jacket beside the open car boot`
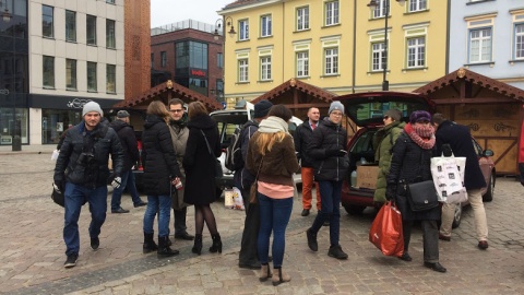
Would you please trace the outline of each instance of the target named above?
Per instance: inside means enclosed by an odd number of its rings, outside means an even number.
[[[384,127],[379,129],[373,137],[374,161],[379,163],[379,175],[373,202],[377,208],[385,203],[386,177],[390,173],[391,151],[396,139],[404,129],[405,122],[401,121],[402,113],[390,109],[384,114]]]

